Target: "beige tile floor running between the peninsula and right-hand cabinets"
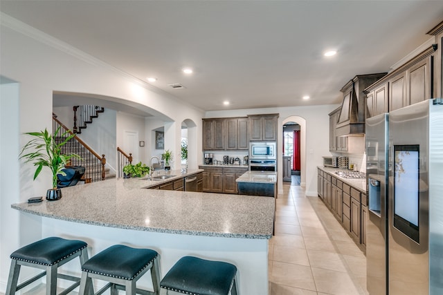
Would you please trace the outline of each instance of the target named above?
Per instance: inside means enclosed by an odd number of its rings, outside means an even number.
[[[318,197],[284,182],[269,241],[270,295],[360,295],[366,258]]]

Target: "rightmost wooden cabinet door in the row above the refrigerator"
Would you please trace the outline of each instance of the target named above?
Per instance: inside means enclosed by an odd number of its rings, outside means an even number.
[[[424,59],[408,70],[409,104],[431,98],[430,59]]]

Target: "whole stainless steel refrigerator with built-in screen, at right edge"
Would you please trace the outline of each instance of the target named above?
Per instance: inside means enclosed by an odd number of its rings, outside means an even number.
[[[372,189],[376,192],[372,196],[380,196],[381,223],[381,195],[388,191],[388,202],[384,204],[387,231],[384,227],[385,234],[381,234],[383,226],[374,218],[377,210],[370,209],[366,250],[368,291],[371,295],[443,294],[443,100],[428,99],[392,111],[385,117],[388,122],[383,135],[388,138],[385,144],[388,163],[382,165],[385,174],[381,177],[383,173],[371,173],[374,170],[370,168],[367,172],[379,181],[381,192]],[[366,142],[368,153],[370,137]],[[377,158],[378,164],[382,161]],[[377,182],[373,184],[377,188]],[[380,233],[375,234],[377,230]],[[381,237],[384,251],[380,248]],[[383,283],[377,271],[384,273],[386,292],[374,286]]]

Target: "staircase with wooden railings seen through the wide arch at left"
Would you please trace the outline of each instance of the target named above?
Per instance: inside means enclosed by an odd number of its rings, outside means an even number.
[[[73,131],[77,132],[73,133],[81,133],[82,129],[87,128],[87,124],[92,123],[93,118],[98,117],[98,113],[103,113],[104,111],[104,108],[100,106],[74,106]],[[80,125],[78,126],[77,123],[79,117]],[[59,127],[62,129],[60,133],[64,133],[69,130],[66,126],[64,126],[64,124],[62,124],[62,122],[57,120],[57,115],[53,114],[53,130],[55,131]],[[71,133],[71,131],[69,131],[69,133]],[[61,138],[62,137],[60,136],[55,137],[55,141],[60,142]],[[116,173],[110,171],[110,169],[105,166],[105,155],[102,154],[100,156],[77,136],[73,137],[71,140],[69,140],[69,142],[62,146],[62,153],[75,153],[80,156],[81,159],[71,158],[69,166],[84,166],[85,173],[82,180],[84,180],[86,183],[116,177]]]

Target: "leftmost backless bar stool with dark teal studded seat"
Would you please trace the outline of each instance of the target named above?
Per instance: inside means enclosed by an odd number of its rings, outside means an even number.
[[[46,294],[55,295],[57,292],[57,278],[64,280],[73,280],[75,283],[64,289],[60,294],[68,294],[75,287],[80,285],[80,278],[66,274],[58,274],[58,267],[80,257],[80,265],[88,260],[87,243],[81,240],[66,240],[64,238],[44,238],[30,245],[21,247],[14,251],[10,258],[11,267],[6,287],[6,295],[14,295],[19,289],[22,289],[33,283],[35,280],[46,275]],[[17,285],[19,280],[21,265],[44,269],[44,272],[37,274],[24,283]]]

